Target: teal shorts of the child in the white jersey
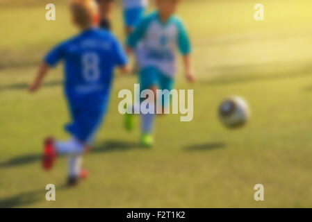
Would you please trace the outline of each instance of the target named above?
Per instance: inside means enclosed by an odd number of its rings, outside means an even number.
[[[144,89],[150,89],[153,86],[156,86],[158,89],[171,91],[174,87],[174,78],[166,76],[161,71],[155,67],[146,67],[140,71],[139,74],[139,83],[140,83],[140,93]],[[165,103],[165,98],[163,96],[163,107],[167,108],[170,106],[171,96],[168,103]]]

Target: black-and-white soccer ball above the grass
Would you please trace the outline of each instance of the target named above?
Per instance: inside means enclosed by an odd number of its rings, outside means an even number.
[[[238,96],[230,97],[221,103],[219,117],[224,126],[228,128],[244,126],[250,117],[248,104]]]

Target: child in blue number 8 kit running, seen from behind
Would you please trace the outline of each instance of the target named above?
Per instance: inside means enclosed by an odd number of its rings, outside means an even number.
[[[99,14],[93,0],[73,0],[70,9],[81,33],[62,42],[44,58],[38,76],[29,87],[35,92],[50,67],[65,63],[64,92],[72,121],[65,126],[72,137],[66,142],[46,139],[43,167],[53,167],[57,155],[69,155],[69,185],[88,172],[80,167],[81,156],[88,151],[106,114],[115,66],[127,71],[122,46],[108,31],[97,28]]]

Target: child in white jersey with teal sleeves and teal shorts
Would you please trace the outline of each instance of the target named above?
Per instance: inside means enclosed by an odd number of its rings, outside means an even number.
[[[190,82],[194,80],[188,33],[181,20],[174,15],[178,4],[179,0],[156,0],[158,10],[141,20],[126,43],[127,51],[136,49],[136,60],[140,66],[141,92],[144,89],[151,89],[155,98],[157,89],[170,91],[174,87],[176,51],[183,55],[187,80]],[[154,104],[157,100],[156,98]],[[161,105],[165,110],[170,104]],[[141,116],[141,143],[144,146],[151,146],[155,114],[141,114]],[[128,130],[133,128],[133,115],[126,114],[125,126]]]

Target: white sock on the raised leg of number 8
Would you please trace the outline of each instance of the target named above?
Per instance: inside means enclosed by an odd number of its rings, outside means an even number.
[[[56,151],[60,154],[76,153],[81,154],[84,151],[83,144],[76,139],[71,138],[67,142],[56,142]]]

